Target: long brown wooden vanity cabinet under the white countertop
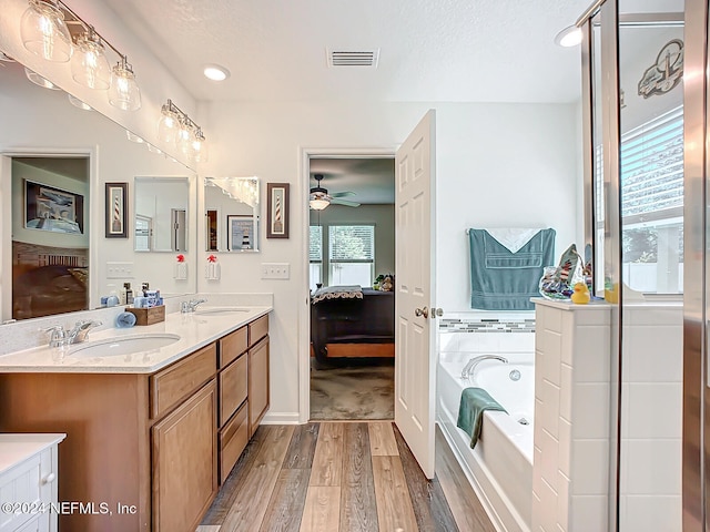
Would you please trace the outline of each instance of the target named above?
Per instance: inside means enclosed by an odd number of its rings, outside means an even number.
[[[150,375],[0,374],[0,432],[65,432],[59,501],[94,503],[60,530],[194,532],[268,408],[267,332],[263,316]]]

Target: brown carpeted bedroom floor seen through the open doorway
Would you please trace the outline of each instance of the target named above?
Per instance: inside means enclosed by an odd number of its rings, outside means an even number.
[[[311,419],[394,419],[394,366],[311,370]]]

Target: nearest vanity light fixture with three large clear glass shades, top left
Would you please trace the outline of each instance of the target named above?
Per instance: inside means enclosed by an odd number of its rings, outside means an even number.
[[[77,83],[89,89],[108,90],[109,103],[123,111],[141,108],[141,92],[125,54],[106,41],[62,0],[28,0],[21,20],[22,43],[48,61],[67,62]],[[69,27],[79,27],[72,30]],[[119,58],[111,69],[106,48]]]

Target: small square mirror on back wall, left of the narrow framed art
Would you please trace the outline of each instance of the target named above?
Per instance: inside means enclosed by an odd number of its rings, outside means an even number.
[[[258,252],[258,177],[205,177],[207,252]]]

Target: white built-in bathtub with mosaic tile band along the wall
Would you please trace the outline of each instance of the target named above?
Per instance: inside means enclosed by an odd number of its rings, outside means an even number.
[[[532,352],[535,317],[532,313],[471,311],[447,314],[439,321],[437,337],[437,421],[474,490],[499,530],[530,530],[532,489]],[[460,379],[470,358],[499,355],[508,359],[480,362],[469,380]],[[521,374],[520,387],[508,399],[504,388],[488,382]],[[503,374],[500,374],[503,371]],[[494,376],[493,374],[500,374]],[[506,385],[508,382],[500,382]],[[485,412],[483,436],[475,449],[470,437],[456,427],[463,388],[485,387],[514,416]],[[520,388],[525,391],[518,393]],[[526,397],[527,396],[527,397]],[[525,418],[530,424],[518,423]]]

